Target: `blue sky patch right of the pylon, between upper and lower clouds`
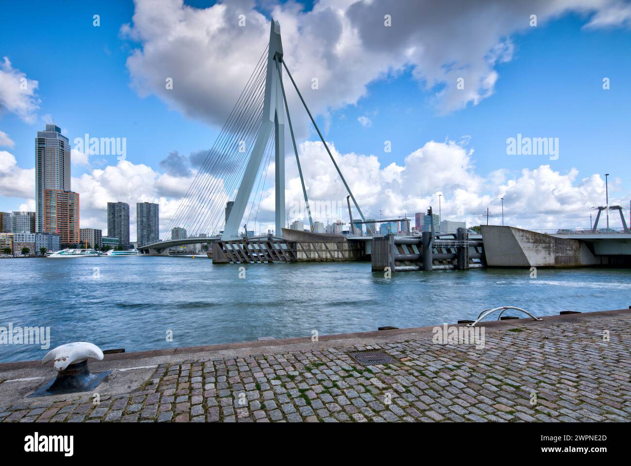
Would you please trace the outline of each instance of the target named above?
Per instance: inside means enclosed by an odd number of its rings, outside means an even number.
[[[499,66],[495,93],[480,104],[448,115],[431,106],[432,91],[421,91],[409,73],[373,83],[357,108],[336,112],[345,121],[331,125],[331,139],[345,150],[375,153],[384,139],[396,135],[401,147],[393,161],[425,141],[471,136],[476,165],[482,172],[497,168],[534,168],[545,157],[510,158],[506,137],[559,137],[559,170],[618,173],[629,168],[631,143],[631,35],[628,31],[582,32],[583,21],[569,17],[554,28],[516,38],[516,58]],[[602,78],[614,83],[603,91]],[[345,137],[357,131],[357,117],[371,117],[365,138]],[[395,139],[395,137],[392,137]]]

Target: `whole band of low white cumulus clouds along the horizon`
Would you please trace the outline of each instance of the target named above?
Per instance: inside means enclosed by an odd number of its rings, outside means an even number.
[[[412,217],[429,206],[438,212],[439,194],[442,194],[442,218],[463,220],[469,226],[485,223],[482,214],[487,207],[492,215],[491,223],[498,224],[500,199],[504,197],[505,224],[530,229],[586,228],[589,213],[595,211],[573,209],[604,204],[605,186],[600,175],[581,177],[575,169],[560,172],[550,165],[517,172],[499,169],[484,175],[476,173],[474,151],[466,146],[467,142],[429,141],[408,154],[401,165],[386,166],[372,154],[339,153],[333,143],[329,143],[329,148],[366,218],[379,219],[380,214],[383,218]],[[303,166],[303,174],[314,220],[326,223],[341,218],[347,221],[346,189],[323,144],[305,141],[298,152],[301,160],[309,160],[309,164]],[[274,164],[266,170],[264,192],[257,194],[256,205],[252,207],[251,202],[245,211],[249,226],[253,226],[256,218],[257,230],[261,231],[274,229]],[[24,199],[20,209],[34,209],[34,175],[33,169],[20,168],[13,154],[0,151],[0,195]],[[81,196],[81,227],[101,228],[106,233],[107,202],[127,202],[134,238],[136,202],[146,201],[160,204],[160,231],[163,233],[193,178],[192,173],[175,176],[127,160],[83,173],[72,178],[73,190]],[[610,183],[611,205],[624,204],[623,199],[628,198],[629,193],[619,191],[620,182],[618,179]],[[205,204],[203,199],[189,201],[196,212],[218,209],[215,219],[219,222],[217,225],[207,223],[207,231],[189,233],[209,233],[214,226],[223,228],[223,206],[231,195],[217,192],[215,198]],[[285,198],[290,221],[304,219],[307,224],[308,219],[300,210],[304,197],[293,156],[286,158]],[[615,222],[612,226],[618,226],[619,219],[612,222]]]

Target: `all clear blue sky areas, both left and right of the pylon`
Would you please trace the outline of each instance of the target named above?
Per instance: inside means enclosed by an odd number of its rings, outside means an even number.
[[[38,13],[37,3],[45,15]],[[307,4],[306,9],[311,8]],[[264,8],[259,11],[269,14]],[[97,13],[99,27],[92,24]],[[1,56],[39,83],[33,122],[12,112],[0,115],[0,131],[15,143],[4,149],[20,168],[33,167],[33,138],[43,129],[46,115],[71,142],[86,132],[97,137],[126,135],[127,158],[156,172],[162,171],[160,161],[171,151],[189,154],[211,146],[216,125],[187,116],[155,93],[140,96],[131,85],[126,61],[143,44],[123,37],[121,26],[132,23],[133,14],[134,4],[126,1],[3,5]],[[498,73],[493,93],[477,105],[469,102],[465,108],[441,112],[436,93],[446,84],[427,87],[414,78],[413,66],[406,66],[370,81],[356,103],[332,109],[326,120],[321,114],[318,121],[340,153],[377,154],[382,168],[392,162],[403,166],[406,156],[428,141],[469,136],[466,147],[474,149],[471,163],[481,177],[499,169],[519,173],[544,164],[562,174],[575,168],[578,178],[607,172],[610,180],[620,178],[612,182],[610,195],[625,199],[631,190],[631,32],[627,27],[586,29],[588,18],[567,13],[510,35],[512,57],[493,66]],[[291,63],[292,57],[286,60]],[[603,90],[603,78],[610,78],[610,90]],[[369,118],[370,126],[362,127],[360,117]],[[517,133],[558,137],[558,160],[507,155],[506,139]],[[310,139],[316,137],[311,132]],[[383,151],[386,140],[392,141],[392,153]],[[91,160],[91,166],[75,165],[73,177],[116,163],[112,155],[105,161]],[[20,197],[0,197],[0,210],[16,210],[23,202]]]

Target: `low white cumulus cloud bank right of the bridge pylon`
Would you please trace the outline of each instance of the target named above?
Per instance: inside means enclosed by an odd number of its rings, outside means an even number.
[[[409,154],[403,165],[387,166],[381,166],[374,155],[339,153],[331,143],[329,148],[366,218],[378,219],[380,214],[383,218],[413,217],[414,213],[424,213],[430,206],[438,213],[439,194],[442,194],[442,218],[466,221],[469,226],[485,223],[483,213],[487,207],[490,222],[498,224],[504,197],[505,224],[531,229],[586,228],[589,213],[595,213],[586,207],[604,202],[603,178],[596,174],[581,178],[575,169],[563,173],[550,165],[541,165],[517,172],[500,169],[487,175],[476,173],[474,152],[466,147],[467,143],[429,141]],[[301,160],[309,160],[309,166],[303,166],[303,175],[314,220],[326,223],[339,216],[347,221],[346,189],[324,146],[306,141],[298,150]],[[286,160],[286,176],[285,197],[290,221],[304,219],[307,224],[305,212],[298,209],[304,204],[304,197],[291,157]],[[269,167],[269,177],[273,177],[273,165]],[[610,183],[611,204],[622,202],[620,199],[628,195],[612,193]],[[613,200],[614,197],[618,200]],[[330,205],[341,210],[331,212],[326,209]],[[274,189],[271,187],[263,196],[259,212],[264,228],[274,228],[273,211]],[[357,216],[354,207],[353,212]],[[616,222],[619,223],[619,219]]]

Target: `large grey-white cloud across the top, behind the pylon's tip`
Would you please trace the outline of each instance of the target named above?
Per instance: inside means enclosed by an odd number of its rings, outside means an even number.
[[[251,0],[208,8],[182,0],[135,4],[133,21],[121,33],[136,44],[127,68],[138,93],[155,94],[186,115],[223,124],[268,44],[268,18]],[[567,13],[584,16],[589,28],[628,26],[631,5],[619,0],[321,0],[310,11],[288,2],[269,6],[269,13],[280,21],[285,61],[315,114],[355,104],[369,83],[407,69],[422,88],[435,91],[435,106],[445,113],[492,95],[500,79],[495,66],[514,54],[511,36],[536,30],[531,15],[538,27]],[[172,89],[165,86],[168,78]],[[457,88],[459,78],[464,88]],[[300,107],[292,91],[288,99],[290,109]],[[304,136],[307,119],[301,117],[294,120],[297,134]]]

